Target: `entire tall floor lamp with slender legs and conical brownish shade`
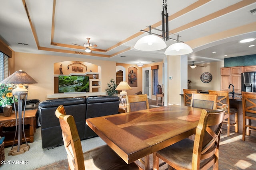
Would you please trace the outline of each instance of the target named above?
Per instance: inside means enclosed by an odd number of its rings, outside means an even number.
[[[16,130],[14,135],[14,141],[12,144],[12,149],[9,152],[9,155],[17,155],[22,154],[29,150],[29,145],[26,140],[25,136],[25,130],[24,130],[24,117],[25,117],[25,109],[26,109],[26,102],[27,102],[27,96],[28,96],[28,90],[26,88],[23,88],[22,84],[32,84],[32,83],[38,83],[36,80],[34,80],[32,77],[30,77],[26,72],[19,70],[14,72],[12,75],[8,76],[6,79],[4,79],[1,83],[10,83],[10,84],[17,84],[17,88],[12,90],[13,95],[13,101],[14,98],[18,99],[18,113],[16,111],[16,105],[14,103],[14,111],[16,115]],[[25,100],[24,104],[24,111],[22,115],[22,100]],[[23,116],[23,117],[22,117]],[[22,121],[23,118],[23,121]],[[18,122],[18,123],[17,123]],[[17,134],[17,127],[18,127],[18,145],[14,147],[14,142],[16,139]],[[23,127],[23,134],[25,138],[26,144],[22,145],[22,127]]]

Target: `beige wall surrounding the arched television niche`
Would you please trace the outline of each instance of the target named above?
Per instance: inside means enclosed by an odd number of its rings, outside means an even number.
[[[116,62],[114,61],[16,52],[14,71],[21,69],[38,82],[38,84],[29,85],[28,99],[48,100],[46,98],[47,94],[54,93],[54,63],[62,61],[82,61],[100,66],[102,70],[102,92],[105,92],[111,78],[116,80]]]

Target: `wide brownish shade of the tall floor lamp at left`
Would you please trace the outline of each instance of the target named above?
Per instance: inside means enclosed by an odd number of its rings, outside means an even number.
[[[2,80],[1,83],[12,83],[12,84],[33,84],[38,83],[26,72],[19,70]]]

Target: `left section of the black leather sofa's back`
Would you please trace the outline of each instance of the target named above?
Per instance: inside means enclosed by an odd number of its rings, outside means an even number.
[[[55,116],[58,106],[63,105],[67,115],[73,115],[80,139],[85,138],[85,98],[54,99],[38,105],[41,121],[42,148],[63,145],[60,122]]]

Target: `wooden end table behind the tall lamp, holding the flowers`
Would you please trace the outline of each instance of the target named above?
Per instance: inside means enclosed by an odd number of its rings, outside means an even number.
[[[36,111],[37,109],[26,110],[25,111],[25,118],[24,118],[24,125],[29,125],[29,129],[25,129],[25,135],[27,142],[34,142],[34,134],[36,132]],[[22,111],[23,114],[23,111]],[[16,126],[16,117],[15,113],[12,113],[11,116],[4,116],[4,113],[0,113],[0,127],[1,127],[1,136],[5,136],[4,145],[12,145],[14,141],[14,132],[3,133],[2,127],[13,127]],[[16,135],[17,136],[17,135]],[[22,133],[22,142],[25,142],[23,133]],[[18,143],[18,136],[16,137],[14,143]]]

